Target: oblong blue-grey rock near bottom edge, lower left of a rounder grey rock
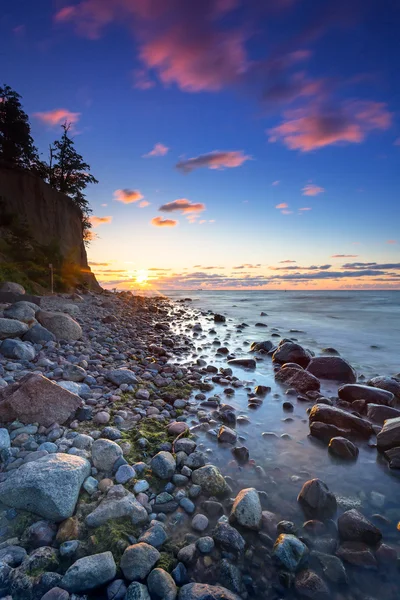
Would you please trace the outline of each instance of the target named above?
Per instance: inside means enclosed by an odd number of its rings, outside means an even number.
[[[112,581],[117,566],[111,552],[79,558],[65,573],[61,586],[68,592],[86,592]]]

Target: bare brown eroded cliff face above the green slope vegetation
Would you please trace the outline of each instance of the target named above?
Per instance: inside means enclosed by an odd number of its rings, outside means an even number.
[[[64,265],[99,287],[87,263],[80,210],[68,196],[29,172],[0,168],[0,227],[10,220],[23,223],[38,245],[57,248]]]

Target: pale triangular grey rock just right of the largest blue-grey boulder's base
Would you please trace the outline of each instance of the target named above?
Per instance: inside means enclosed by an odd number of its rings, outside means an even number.
[[[112,486],[106,498],[86,517],[88,527],[100,527],[112,519],[129,517],[133,525],[148,521],[147,511],[123,485]]]

